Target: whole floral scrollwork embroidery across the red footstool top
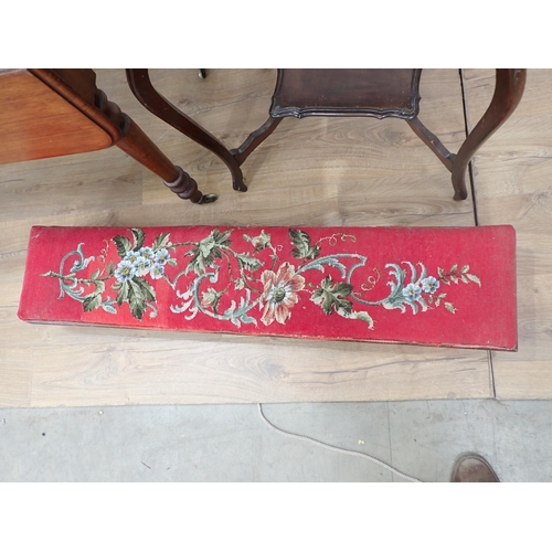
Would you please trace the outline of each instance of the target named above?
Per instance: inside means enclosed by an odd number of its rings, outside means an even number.
[[[437,266],[433,274],[421,262],[390,259],[383,267],[371,266],[368,256],[340,250],[340,244],[357,241],[342,232],[314,242],[304,230],[289,229],[287,243],[273,243],[264,230],[234,240],[232,229],[213,229],[200,240],[176,243],[170,232],[147,243],[141,229],[123,234],[106,240],[97,258],[85,256],[85,244],[78,244],[63,256],[57,272],[42,276],[57,278],[60,299],[79,301],[85,312],[102,309],[117,316],[128,309],[137,320],[146,312],[155,318],[166,308],[158,304],[163,286],[174,297],[170,311],[185,320],[205,316],[257,328],[258,322],[285,326],[294,309],[309,305],[316,306],[314,316],[360,321],[367,329],[376,326],[376,308],[411,315],[444,308],[454,315],[458,309],[444,287],[481,286],[469,265]],[[282,258],[283,252],[293,263]],[[385,269],[388,279],[380,284]],[[371,297],[376,293],[379,298]]]

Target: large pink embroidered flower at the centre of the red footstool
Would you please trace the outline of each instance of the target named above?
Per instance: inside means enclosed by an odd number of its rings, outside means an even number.
[[[305,287],[305,278],[295,274],[293,265],[284,263],[277,274],[265,270],[261,282],[264,286],[259,301],[259,307],[264,309],[261,320],[265,326],[270,326],[275,319],[286,323],[291,316],[289,309],[299,300],[297,293]]]

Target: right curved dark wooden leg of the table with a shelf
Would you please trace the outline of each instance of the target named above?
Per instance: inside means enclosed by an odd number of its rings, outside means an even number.
[[[453,162],[455,200],[465,200],[466,170],[481,145],[510,117],[523,95],[527,70],[496,70],[495,95],[487,112],[468,135]]]

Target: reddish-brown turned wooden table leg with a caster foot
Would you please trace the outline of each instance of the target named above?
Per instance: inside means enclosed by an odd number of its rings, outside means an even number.
[[[98,108],[120,129],[116,146],[160,177],[179,198],[190,200],[192,203],[216,201],[215,194],[203,195],[198,190],[195,180],[173,164],[144,130],[128,115],[121,113],[117,104],[107,100],[102,91],[98,91],[97,104]]]

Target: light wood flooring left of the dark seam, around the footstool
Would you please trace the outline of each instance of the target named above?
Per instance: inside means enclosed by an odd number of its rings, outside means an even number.
[[[0,168],[0,406],[381,401],[487,397],[486,351],[39,326],[17,318],[33,224],[471,226],[471,199],[401,120],[286,119],[232,190],[213,155],[146,112],[121,70],[98,86],[181,164],[209,205],[178,200],[117,148]],[[229,147],[262,125],[274,70],[151,72],[159,91]],[[422,77],[421,119],[456,151],[464,136],[455,70]],[[510,140],[512,138],[510,137]]]

